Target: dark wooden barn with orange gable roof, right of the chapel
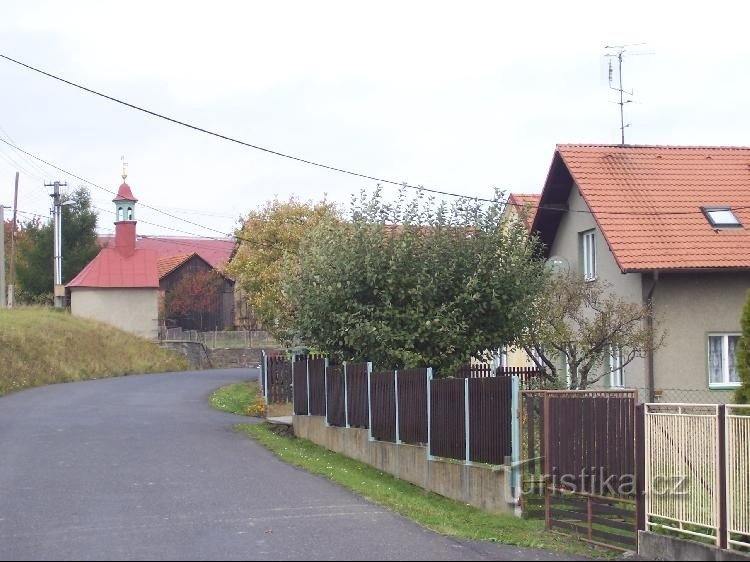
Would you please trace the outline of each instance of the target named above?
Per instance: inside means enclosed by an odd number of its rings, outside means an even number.
[[[233,328],[234,280],[197,252],[163,257],[157,267],[159,317],[167,327],[200,331]],[[186,290],[198,294],[194,303],[180,306],[175,297]]]

